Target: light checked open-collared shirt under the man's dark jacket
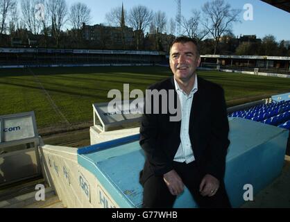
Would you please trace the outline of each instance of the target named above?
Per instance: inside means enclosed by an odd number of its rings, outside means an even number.
[[[180,145],[178,147],[178,151],[174,157],[174,161],[176,162],[193,162],[194,159],[194,152],[191,148],[191,142],[189,139],[189,117],[190,117],[190,110],[192,100],[194,99],[194,94],[197,92],[198,85],[197,85],[197,76],[194,80],[194,87],[192,87],[191,92],[187,96],[182,89],[180,89],[176,78],[174,78],[174,85],[176,87],[176,92],[180,99],[180,108],[181,108],[181,128],[180,128]]]

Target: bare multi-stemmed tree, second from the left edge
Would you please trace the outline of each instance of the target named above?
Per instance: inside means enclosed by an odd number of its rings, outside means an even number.
[[[29,31],[34,35],[40,33],[42,21],[40,17],[37,16],[38,8],[37,5],[40,4],[40,0],[22,0],[22,21],[26,25]]]

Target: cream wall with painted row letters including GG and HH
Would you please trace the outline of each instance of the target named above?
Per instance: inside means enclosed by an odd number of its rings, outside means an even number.
[[[66,207],[118,207],[96,177],[81,167],[77,149],[65,146],[40,147],[43,171]]]

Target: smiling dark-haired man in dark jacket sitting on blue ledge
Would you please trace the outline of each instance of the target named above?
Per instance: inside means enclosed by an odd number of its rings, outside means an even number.
[[[164,103],[146,95],[139,140],[146,154],[139,178],[143,207],[173,207],[184,186],[199,207],[230,207],[223,182],[230,144],[224,93],[219,85],[196,76],[200,62],[196,41],[178,37],[170,48],[173,77],[148,88],[165,90],[169,96]],[[181,120],[171,119],[172,101]],[[164,104],[167,112],[162,111]],[[162,113],[153,112],[156,105]]]

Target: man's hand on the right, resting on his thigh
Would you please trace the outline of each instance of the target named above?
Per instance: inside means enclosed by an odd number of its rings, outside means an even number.
[[[219,180],[210,174],[206,174],[201,180],[199,191],[202,196],[214,196],[219,189]]]

